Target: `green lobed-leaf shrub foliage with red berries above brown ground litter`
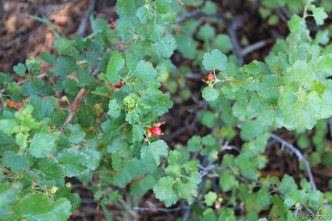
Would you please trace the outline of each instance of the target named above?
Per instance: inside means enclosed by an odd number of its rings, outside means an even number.
[[[216,13],[211,1],[183,2],[203,4],[206,16]],[[297,220],[298,213],[332,215],[331,192],[317,190],[310,169],[331,166],[325,139],[332,115],[329,31],[312,37],[306,22],[310,16],[323,25],[324,9],[307,1],[297,6],[304,10],[299,16],[295,1],[262,1],[259,12],[270,25],[279,21],[276,7],[294,13],[290,33],[264,62],[238,68],[238,59],[225,55],[233,47],[229,36],[216,34],[212,22],[199,27],[195,19],[177,20],[187,13],[181,4],[119,0],[112,25],[91,17],[90,35],[54,42],[58,57],[41,52],[42,60],[17,64],[15,74],[26,80],[0,73],[2,220],[67,220],[80,196],[65,177],[90,188],[106,213],[108,202],[124,197],[119,190],[132,199],[153,190],[166,207],[181,206],[183,219],[258,220],[262,211],[280,221]],[[190,97],[184,80],[190,67],[172,64],[174,50],[213,74],[204,80],[205,101],[199,102],[206,108],[198,113],[211,133],[170,149],[150,128],[173,106],[161,83],[171,93],[179,87],[183,100]],[[41,73],[42,61],[52,69]],[[274,133],[283,127],[294,130],[294,145]],[[238,132],[241,149],[230,144]],[[298,158],[301,179],[261,176],[270,139]],[[234,152],[220,154],[227,149]]]

